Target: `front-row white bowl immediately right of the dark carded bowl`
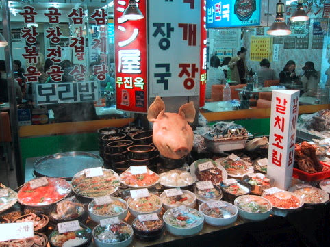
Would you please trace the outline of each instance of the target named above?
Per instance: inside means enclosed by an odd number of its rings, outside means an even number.
[[[181,227],[177,227],[177,226],[173,226],[172,224],[170,224],[168,217],[172,215],[172,213],[170,212],[170,209],[168,209],[163,216],[163,220],[166,224],[166,230],[175,236],[190,236],[190,235],[194,235],[196,233],[199,233],[200,231],[202,231],[203,229],[203,224],[204,224],[204,216],[203,213],[201,213],[200,211],[197,211],[196,209],[190,209],[188,207],[189,212],[194,212],[197,213],[199,216],[201,216],[201,220],[199,220],[198,224],[196,224],[195,226],[192,226],[190,228],[181,228]]]

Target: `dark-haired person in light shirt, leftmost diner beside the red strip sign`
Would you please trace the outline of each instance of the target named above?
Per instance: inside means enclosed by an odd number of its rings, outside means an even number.
[[[207,81],[206,81],[206,99],[211,99],[211,88],[212,85],[225,84],[226,77],[222,70],[219,70],[220,59],[218,56],[213,55],[210,58],[210,68],[207,70]]]

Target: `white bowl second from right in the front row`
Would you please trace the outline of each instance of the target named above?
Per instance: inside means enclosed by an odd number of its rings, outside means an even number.
[[[205,223],[210,224],[211,226],[227,226],[229,224],[233,224],[233,222],[236,222],[237,216],[238,216],[238,209],[236,206],[232,205],[231,203],[227,203],[225,201],[222,201],[225,203],[225,205],[229,208],[229,211],[233,212],[233,215],[229,218],[216,218],[212,216],[207,216],[205,213],[203,213],[203,209],[207,206],[207,203],[216,202],[217,200],[210,200],[208,202],[202,203],[199,205],[199,211],[203,214]]]

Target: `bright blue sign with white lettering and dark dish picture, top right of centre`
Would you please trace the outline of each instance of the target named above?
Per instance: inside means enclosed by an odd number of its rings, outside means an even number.
[[[206,27],[248,27],[260,25],[261,0],[208,0]]]

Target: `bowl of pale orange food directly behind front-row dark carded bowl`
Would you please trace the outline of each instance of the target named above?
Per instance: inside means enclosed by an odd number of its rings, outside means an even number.
[[[162,200],[159,196],[150,194],[147,197],[132,198],[127,200],[129,213],[138,217],[140,214],[157,213],[162,211]]]

